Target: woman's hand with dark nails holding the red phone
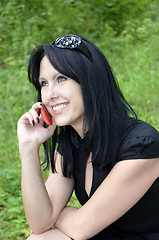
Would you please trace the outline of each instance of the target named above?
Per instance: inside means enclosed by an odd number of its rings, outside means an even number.
[[[48,128],[44,128],[44,120],[38,115],[39,109],[42,107],[42,103],[35,103],[32,108],[19,119],[17,128],[19,146],[22,145],[24,147],[24,145],[28,144],[34,148],[39,148],[43,142],[53,135],[56,129],[55,121],[52,119],[52,124]]]

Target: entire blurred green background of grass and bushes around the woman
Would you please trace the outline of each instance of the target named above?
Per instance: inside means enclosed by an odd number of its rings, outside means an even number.
[[[100,47],[139,118],[159,129],[158,0],[0,0],[1,240],[29,234],[16,136],[19,117],[36,101],[27,80],[29,54],[68,33]],[[78,205],[74,195],[69,204]]]

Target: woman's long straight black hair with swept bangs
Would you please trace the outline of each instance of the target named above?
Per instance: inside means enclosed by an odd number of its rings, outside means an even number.
[[[120,91],[103,53],[87,39],[82,37],[82,41],[90,50],[92,60],[76,48],[61,49],[55,45],[43,44],[31,54],[28,76],[38,90],[39,101],[41,88],[38,79],[40,62],[44,56],[58,72],[80,84],[84,102],[83,131],[86,132],[86,126],[89,128],[85,148],[93,152],[93,166],[103,169],[116,161],[124,131],[135,122],[133,119],[137,119],[137,116]],[[44,144],[47,163],[51,162],[54,172],[54,150],[58,142],[63,153],[63,174],[69,177],[74,165],[72,133],[77,134],[70,126],[58,127],[52,138]]]

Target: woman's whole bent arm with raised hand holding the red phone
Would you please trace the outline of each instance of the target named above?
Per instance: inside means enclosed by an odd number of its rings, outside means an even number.
[[[74,188],[73,179],[62,175],[61,155],[58,153],[58,173],[50,172],[46,186],[44,184],[39,147],[52,136],[56,125],[53,122],[48,128],[44,128],[43,120],[37,114],[39,108],[40,103],[35,104],[18,122],[24,209],[29,226],[37,234],[52,227],[69,201]],[[36,122],[37,118],[39,121]]]

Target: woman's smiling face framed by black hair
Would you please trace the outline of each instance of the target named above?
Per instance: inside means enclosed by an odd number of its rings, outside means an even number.
[[[40,63],[42,102],[58,126],[71,125],[82,135],[84,104],[80,84],[59,73],[46,56]]]

